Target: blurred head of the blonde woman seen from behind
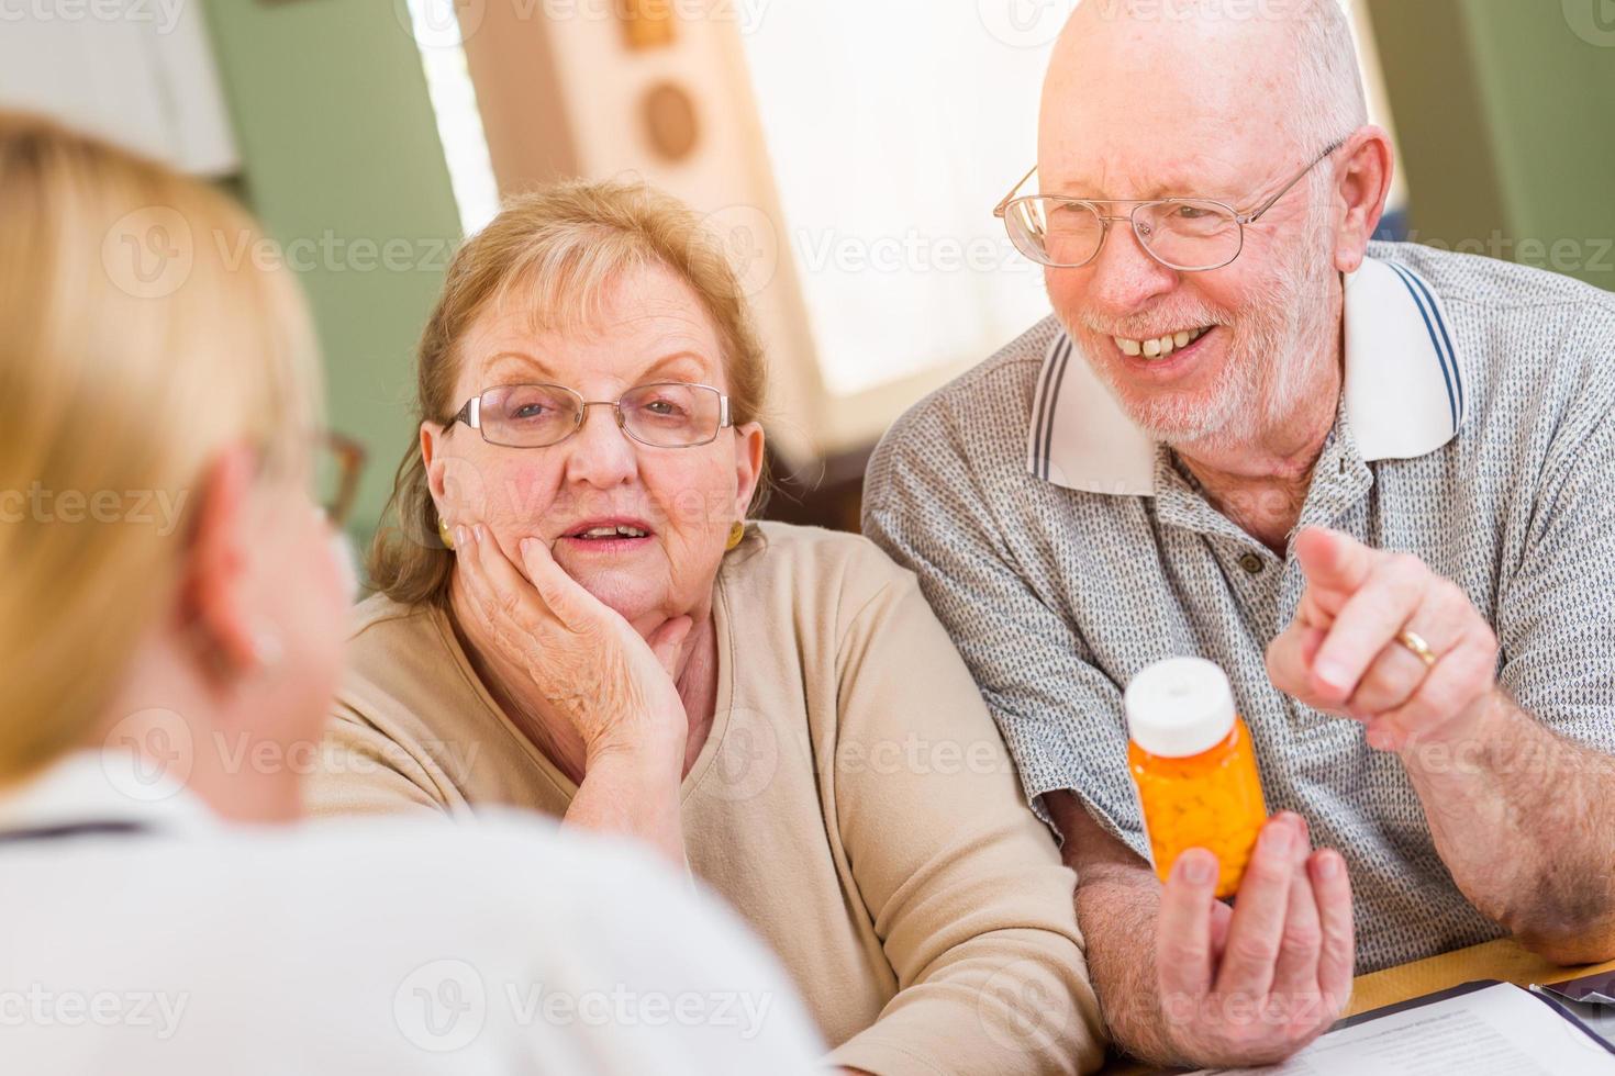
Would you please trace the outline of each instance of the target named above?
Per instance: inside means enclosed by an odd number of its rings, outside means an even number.
[[[218,723],[250,744],[325,711],[317,360],[242,239],[221,194],[0,111],[0,786],[153,723],[189,740],[173,776],[215,781]]]

